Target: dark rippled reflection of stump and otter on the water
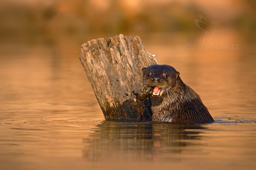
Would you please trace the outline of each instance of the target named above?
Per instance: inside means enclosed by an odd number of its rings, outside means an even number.
[[[88,138],[82,156],[89,161],[178,161],[175,154],[200,140],[201,125],[104,121]]]

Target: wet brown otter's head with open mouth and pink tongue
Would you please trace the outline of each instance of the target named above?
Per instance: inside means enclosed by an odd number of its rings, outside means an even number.
[[[153,96],[169,95],[180,73],[169,65],[150,65],[142,68],[143,85],[152,87]]]

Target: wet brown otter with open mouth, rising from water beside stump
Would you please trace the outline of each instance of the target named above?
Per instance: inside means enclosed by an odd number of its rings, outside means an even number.
[[[199,95],[169,65],[142,68],[143,90],[139,100],[151,99],[153,122],[211,123],[214,119]]]

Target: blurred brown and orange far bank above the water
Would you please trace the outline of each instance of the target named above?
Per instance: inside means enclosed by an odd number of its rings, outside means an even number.
[[[203,15],[247,37],[255,31],[254,0],[1,0],[0,35],[116,35],[199,32]]]

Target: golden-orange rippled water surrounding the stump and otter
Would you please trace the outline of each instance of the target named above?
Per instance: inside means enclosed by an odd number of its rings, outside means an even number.
[[[224,34],[219,42],[240,48],[178,49],[202,41],[163,37],[142,39],[180,71],[214,123],[105,121],[79,62],[91,38],[1,42],[0,169],[255,169],[255,44]]]

